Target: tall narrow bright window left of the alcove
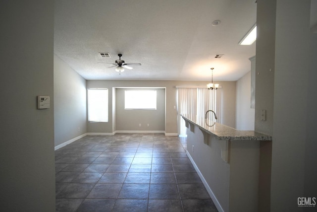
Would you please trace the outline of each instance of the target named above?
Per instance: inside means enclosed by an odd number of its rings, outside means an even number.
[[[108,89],[88,89],[88,121],[108,122]]]

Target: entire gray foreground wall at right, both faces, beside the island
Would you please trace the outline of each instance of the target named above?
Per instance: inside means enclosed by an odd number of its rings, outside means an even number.
[[[297,206],[298,197],[317,193],[317,38],[310,32],[310,5],[258,0],[255,128],[273,136],[272,212],[314,210]],[[259,120],[261,109],[268,112],[265,122]]]

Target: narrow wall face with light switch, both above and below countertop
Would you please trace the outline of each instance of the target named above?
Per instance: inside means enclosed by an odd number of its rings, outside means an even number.
[[[258,0],[255,131],[273,134],[274,62],[275,62],[275,9],[276,0]],[[267,15],[270,14],[270,15]],[[269,71],[269,70],[272,71]],[[261,111],[266,110],[266,121],[261,121]],[[273,138],[274,140],[274,138]],[[260,175],[260,212],[270,210],[271,203],[271,142],[261,142],[260,166],[267,167]]]

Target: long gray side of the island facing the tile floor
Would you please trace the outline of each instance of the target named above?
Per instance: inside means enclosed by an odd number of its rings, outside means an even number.
[[[219,141],[214,138],[214,135],[210,135],[208,144],[205,144],[203,133],[196,125],[193,126],[194,132],[187,128],[187,151],[194,160],[194,166],[196,165],[198,172],[203,175],[202,180],[206,181],[214,195],[216,200],[209,191],[218,211],[228,212],[230,166],[221,159]],[[208,187],[207,190],[209,190]]]

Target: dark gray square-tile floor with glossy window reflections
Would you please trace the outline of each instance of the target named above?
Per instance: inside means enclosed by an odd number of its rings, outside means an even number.
[[[186,139],[86,136],[55,151],[56,211],[216,212]]]

